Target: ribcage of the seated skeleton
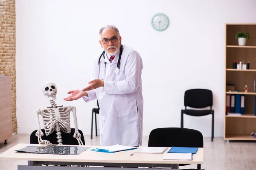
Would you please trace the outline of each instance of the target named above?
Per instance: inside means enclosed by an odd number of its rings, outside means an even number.
[[[46,136],[56,129],[56,123],[61,131],[70,133],[70,111],[71,107],[48,108],[41,111]]]

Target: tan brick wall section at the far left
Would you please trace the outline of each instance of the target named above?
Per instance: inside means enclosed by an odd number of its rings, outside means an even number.
[[[12,132],[17,133],[15,0],[0,0],[0,74],[12,78]]]

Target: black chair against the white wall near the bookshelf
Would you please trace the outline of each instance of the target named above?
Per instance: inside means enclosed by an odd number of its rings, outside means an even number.
[[[214,110],[212,109],[212,91],[207,89],[190,89],[185,91],[184,95],[185,110],[181,110],[180,127],[183,127],[183,114],[190,116],[206,116],[212,114],[212,137],[214,138]],[[207,108],[208,110],[194,110],[190,108]]]

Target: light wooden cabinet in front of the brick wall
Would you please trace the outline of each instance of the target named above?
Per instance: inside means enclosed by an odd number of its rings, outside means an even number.
[[[12,136],[11,77],[0,77],[0,142]]]

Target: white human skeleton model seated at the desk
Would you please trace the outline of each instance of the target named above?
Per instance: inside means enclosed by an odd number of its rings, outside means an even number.
[[[51,144],[47,140],[42,140],[42,136],[44,133],[41,130],[40,123],[39,123],[39,115],[42,116],[44,122],[44,130],[46,136],[51,134],[54,130],[56,130],[56,135],[58,139],[58,143],[62,144],[61,140],[61,131],[64,133],[70,133],[70,111],[73,112],[74,121],[75,121],[75,133],[73,135],[74,138],[77,139],[79,145],[84,145],[81,141],[81,134],[78,131],[77,127],[77,118],[76,118],[76,107],[75,106],[57,106],[55,104],[56,94],[57,94],[57,87],[53,82],[46,82],[43,85],[42,89],[44,95],[49,99],[51,106],[47,109],[37,109],[35,110],[36,113],[36,120],[38,125],[38,131],[35,133],[38,136],[38,143],[39,144]]]

